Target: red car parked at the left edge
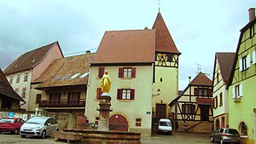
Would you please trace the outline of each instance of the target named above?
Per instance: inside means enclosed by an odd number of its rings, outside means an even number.
[[[20,127],[25,121],[21,118],[2,118],[0,120],[0,133],[11,132],[13,134],[19,134]]]

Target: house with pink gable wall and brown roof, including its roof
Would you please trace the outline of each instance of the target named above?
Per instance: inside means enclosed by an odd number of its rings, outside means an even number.
[[[4,75],[9,79],[9,84],[26,101],[26,104],[20,108],[26,110],[28,108],[31,82],[44,72],[52,60],[62,57],[59,43],[49,43],[48,45],[20,55],[20,57],[4,70]]]

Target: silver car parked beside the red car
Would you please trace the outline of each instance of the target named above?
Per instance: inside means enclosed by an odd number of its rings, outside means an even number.
[[[51,117],[33,117],[26,121],[20,128],[20,136],[26,137],[26,135],[40,136],[51,136],[53,131],[59,130],[58,121]]]

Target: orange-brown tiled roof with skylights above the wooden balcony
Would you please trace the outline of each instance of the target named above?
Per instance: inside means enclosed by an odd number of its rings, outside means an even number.
[[[32,83],[42,82],[36,89],[88,84],[88,75],[80,77],[90,71],[90,60],[94,55],[84,54],[53,60],[43,74]],[[72,78],[75,74],[77,77]]]

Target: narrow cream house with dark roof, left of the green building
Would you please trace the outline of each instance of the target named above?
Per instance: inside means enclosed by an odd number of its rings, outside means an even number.
[[[235,53],[216,53],[213,67],[212,96],[214,130],[229,128],[229,90],[227,84]]]

